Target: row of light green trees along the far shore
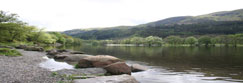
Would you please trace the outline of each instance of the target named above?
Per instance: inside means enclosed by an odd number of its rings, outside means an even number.
[[[133,44],[136,46],[237,46],[243,44],[243,34],[217,35],[217,36],[168,36],[164,39],[156,36],[130,37],[121,40],[86,40],[93,45],[105,44]]]

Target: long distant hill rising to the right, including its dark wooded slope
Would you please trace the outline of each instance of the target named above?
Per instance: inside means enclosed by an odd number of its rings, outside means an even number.
[[[243,32],[243,9],[199,16],[167,18],[137,26],[75,29],[63,33],[82,39],[116,39],[130,36],[234,34]]]

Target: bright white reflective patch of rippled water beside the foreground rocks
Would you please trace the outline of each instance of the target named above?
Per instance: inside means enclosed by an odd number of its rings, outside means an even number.
[[[163,68],[150,67],[143,72],[132,73],[141,83],[241,83],[227,77],[205,77],[204,73],[188,70],[189,73],[174,72]],[[217,79],[217,80],[216,80]]]

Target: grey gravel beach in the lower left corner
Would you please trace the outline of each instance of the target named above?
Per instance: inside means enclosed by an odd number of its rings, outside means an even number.
[[[45,52],[18,51],[19,57],[0,56],[0,83],[57,83],[60,78],[51,76],[48,69],[39,67],[45,61]]]

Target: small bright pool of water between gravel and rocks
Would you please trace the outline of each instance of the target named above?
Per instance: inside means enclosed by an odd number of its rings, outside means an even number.
[[[74,69],[73,65],[69,65],[66,62],[57,62],[54,59],[48,58],[48,57],[43,57],[44,59],[46,59],[46,61],[40,63],[40,67],[49,69],[51,71],[57,71],[57,70],[61,70],[61,69]]]

